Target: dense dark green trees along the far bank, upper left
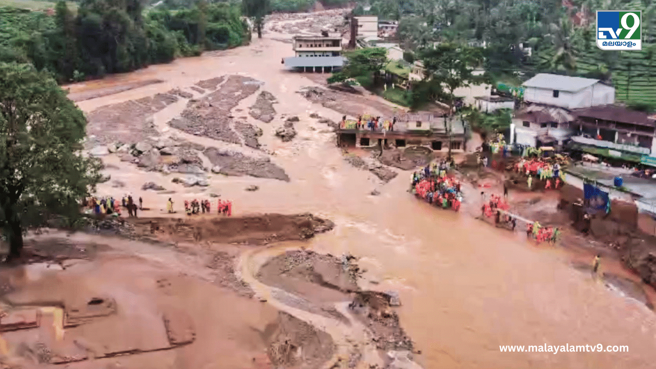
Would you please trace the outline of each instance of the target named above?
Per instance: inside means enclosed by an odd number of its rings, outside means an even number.
[[[54,16],[0,8],[0,60],[31,62],[60,83],[129,72],[247,43],[240,4],[200,0],[144,10],[139,0],[60,1]]]

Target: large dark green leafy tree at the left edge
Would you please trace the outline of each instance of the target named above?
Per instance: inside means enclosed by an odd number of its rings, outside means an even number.
[[[73,219],[100,179],[81,156],[87,120],[49,74],[0,62],[0,225],[20,255],[23,232],[48,215]]]

